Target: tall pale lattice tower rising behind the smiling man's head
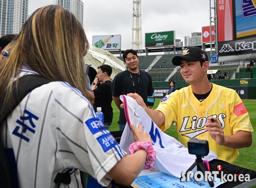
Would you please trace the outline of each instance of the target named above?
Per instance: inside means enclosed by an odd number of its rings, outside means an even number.
[[[141,0],[133,0],[132,9],[132,49],[142,49],[142,27],[141,27]],[[135,26],[134,26],[135,19]],[[135,32],[135,38],[134,38]]]

